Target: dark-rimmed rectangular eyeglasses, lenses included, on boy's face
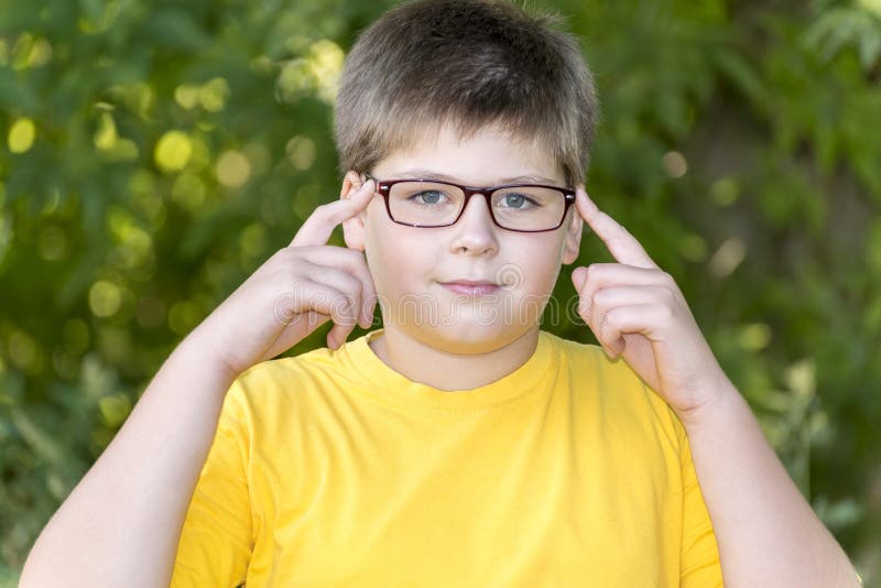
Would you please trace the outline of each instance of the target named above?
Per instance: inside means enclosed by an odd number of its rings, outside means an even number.
[[[575,190],[543,184],[511,184],[482,188],[460,186],[439,179],[378,181],[377,192],[385,200],[389,218],[409,227],[449,227],[461,217],[471,196],[487,198],[492,221],[521,232],[559,228],[575,202]]]

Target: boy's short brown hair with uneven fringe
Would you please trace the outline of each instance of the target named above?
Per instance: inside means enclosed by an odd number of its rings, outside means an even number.
[[[581,183],[598,105],[577,37],[555,13],[509,0],[414,0],[357,39],[334,131],[342,173],[366,172],[420,132],[453,124],[467,140],[498,127],[534,142]]]

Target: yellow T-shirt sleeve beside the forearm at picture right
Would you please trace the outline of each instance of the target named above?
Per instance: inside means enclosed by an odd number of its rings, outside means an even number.
[[[682,588],[715,588],[722,586],[722,570],[716,533],[697,483],[692,460],[692,446],[684,427],[679,433],[679,462],[683,482]]]

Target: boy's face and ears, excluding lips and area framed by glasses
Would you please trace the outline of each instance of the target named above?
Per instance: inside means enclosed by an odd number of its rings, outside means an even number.
[[[466,186],[535,176],[516,183],[573,187],[547,153],[492,128],[468,141],[447,127],[425,133],[416,148],[393,153],[368,172],[379,181],[443,175]],[[362,181],[349,172],[341,196]],[[511,231],[494,225],[486,197],[475,195],[452,226],[409,227],[389,218],[377,194],[365,213],[344,224],[344,235],[348,247],[366,253],[387,329],[438,350],[482,353],[539,328],[561,262],[578,255],[581,219],[570,206],[556,230]],[[463,295],[444,285],[456,280],[487,280],[501,287],[494,294]]]

